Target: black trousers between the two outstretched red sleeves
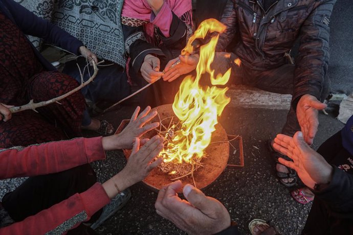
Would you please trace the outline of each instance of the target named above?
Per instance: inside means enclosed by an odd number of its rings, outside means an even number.
[[[34,176],[28,178],[13,192],[7,193],[2,199],[2,205],[10,217],[22,221],[29,216],[48,209],[76,193],[82,193],[97,182],[96,173],[89,164],[75,167],[63,172]],[[101,210],[91,221],[99,218]],[[76,228],[77,234],[82,234]]]

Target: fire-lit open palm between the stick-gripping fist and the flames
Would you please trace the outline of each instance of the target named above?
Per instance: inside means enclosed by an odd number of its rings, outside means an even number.
[[[182,56],[170,60],[164,68],[163,80],[171,82],[184,74],[190,73],[197,66],[198,59],[200,56],[198,54]],[[173,66],[178,60],[180,63]]]

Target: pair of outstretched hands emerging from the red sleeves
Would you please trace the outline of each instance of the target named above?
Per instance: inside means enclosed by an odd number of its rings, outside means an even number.
[[[151,139],[140,139],[144,133],[159,126],[158,122],[145,125],[157,115],[156,110],[150,110],[148,106],[139,114],[140,107],[137,107],[121,133],[102,138],[104,150],[133,149],[125,168],[102,184],[109,198],[118,194],[116,187],[120,191],[127,189],[145,179],[152,169],[162,163],[163,158],[157,156],[164,147],[164,138],[156,135]]]

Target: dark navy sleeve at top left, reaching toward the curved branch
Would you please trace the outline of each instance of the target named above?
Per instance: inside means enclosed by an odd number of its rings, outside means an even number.
[[[49,21],[35,16],[32,12],[22,7],[13,0],[0,0],[0,12],[7,16],[21,32],[36,36],[47,42],[53,43],[61,48],[78,55],[78,49],[83,43],[71,36]],[[26,38],[27,39],[27,38]],[[30,43],[30,41],[27,39]],[[35,57],[46,70],[56,70],[30,43]]]

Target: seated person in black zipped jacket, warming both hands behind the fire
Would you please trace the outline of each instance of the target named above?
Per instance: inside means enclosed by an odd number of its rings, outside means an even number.
[[[290,111],[281,133],[293,136],[301,130],[305,141],[313,144],[319,125],[318,110],[326,108],[321,102],[329,93],[329,18],[336,0],[227,0],[224,3],[220,1],[213,7],[210,0],[197,1],[197,9],[210,8],[210,16],[218,17],[227,27],[219,35],[216,47],[219,52],[213,61],[216,74],[225,73],[231,67],[230,81],[235,84],[291,94]],[[221,16],[219,6],[225,6]],[[199,18],[202,19],[196,14],[196,19]],[[294,61],[291,51],[297,41],[299,49]],[[164,80],[192,71],[197,55],[179,60],[178,66],[171,67],[174,60],[166,65]],[[240,64],[236,62],[239,60]],[[278,163],[278,158],[285,156],[273,150],[273,139],[269,139],[269,149],[277,162],[280,183],[287,187],[295,185],[296,172]]]

